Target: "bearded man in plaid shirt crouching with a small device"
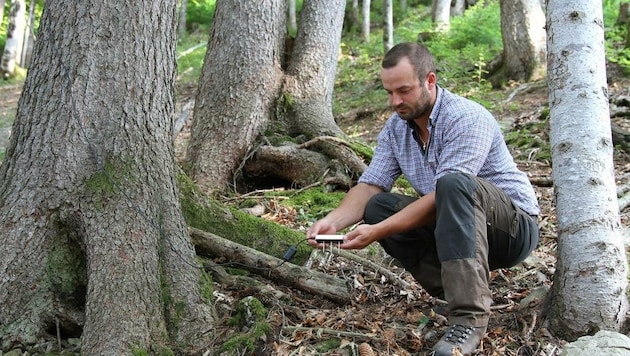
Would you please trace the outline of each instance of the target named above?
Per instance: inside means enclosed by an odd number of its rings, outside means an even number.
[[[318,246],[316,235],[363,221],[340,247],[378,241],[428,293],[448,302],[449,329],[433,354],[470,354],[490,317],[489,272],[532,252],[540,210],[492,114],[438,86],[435,71],[420,44],[387,52],[381,80],[396,113],[357,185],[307,238]],[[389,193],[401,174],[419,198]]]

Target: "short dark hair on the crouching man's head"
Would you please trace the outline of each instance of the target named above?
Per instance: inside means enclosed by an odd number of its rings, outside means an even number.
[[[385,53],[381,66],[385,69],[392,68],[405,57],[409,58],[409,63],[415,70],[418,79],[436,71],[433,55],[424,45],[416,42],[403,42],[392,47]]]

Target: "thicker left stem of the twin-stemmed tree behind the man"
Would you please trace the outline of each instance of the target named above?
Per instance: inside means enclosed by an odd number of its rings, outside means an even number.
[[[282,84],[284,3],[216,4],[187,152],[202,187],[223,190],[270,121]]]

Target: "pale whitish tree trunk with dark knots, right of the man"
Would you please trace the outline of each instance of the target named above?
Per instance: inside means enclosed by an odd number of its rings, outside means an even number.
[[[547,16],[558,218],[548,315],[556,335],[572,341],[620,329],[627,311],[627,259],[612,159],[602,3],[550,0]]]

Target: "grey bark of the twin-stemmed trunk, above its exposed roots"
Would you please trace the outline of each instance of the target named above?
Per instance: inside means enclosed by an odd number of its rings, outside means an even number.
[[[217,3],[187,152],[200,186],[225,189],[265,130],[343,136],[332,94],[344,7],[344,0],[304,2],[283,71],[284,1]]]

